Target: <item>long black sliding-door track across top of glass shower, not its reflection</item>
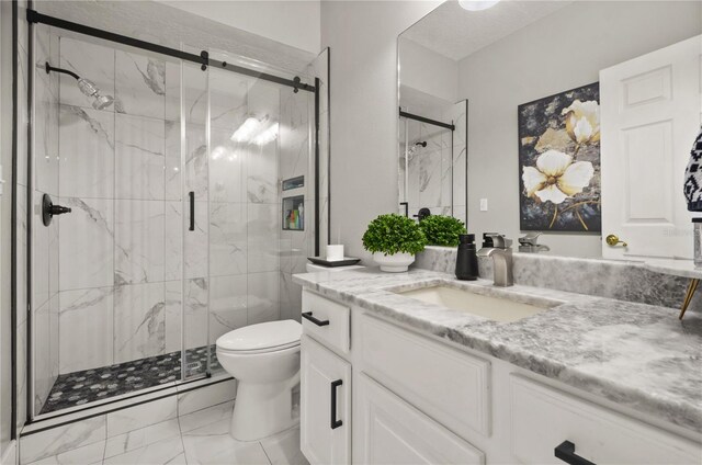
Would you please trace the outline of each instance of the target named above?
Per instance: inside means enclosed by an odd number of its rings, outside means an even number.
[[[128,37],[126,35],[115,34],[113,32],[90,27],[84,24],[78,24],[70,21],[61,20],[59,18],[48,16],[42,14],[36,10],[26,11],[26,20],[30,23],[46,24],[54,27],[59,27],[66,31],[77,32],[83,35],[90,35],[92,37],[103,38],[110,42],[116,42],[120,44],[128,45],[131,47],[141,48],[144,50],[155,52],[157,54],[167,55],[173,58],[179,58],[185,61],[196,63],[202,66],[203,71],[208,66],[215,68],[225,69],[227,71],[237,72],[239,75],[250,76],[252,78],[262,79],[264,81],[275,82],[282,86],[292,87],[297,90],[305,90],[307,92],[315,92],[315,86],[302,82],[298,77],[294,79],[281,78],[280,76],[269,75],[268,72],[257,71],[254,69],[245,68],[242,66],[231,65],[226,61],[219,61],[210,58],[210,54],[205,50],[200,55],[190,54],[176,48],[166,47],[163,45],[154,44],[151,42],[140,41],[138,38]]]

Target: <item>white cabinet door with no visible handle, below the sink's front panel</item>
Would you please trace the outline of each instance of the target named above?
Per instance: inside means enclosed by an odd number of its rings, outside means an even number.
[[[354,386],[356,463],[483,464],[480,451],[427,417],[365,374]]]

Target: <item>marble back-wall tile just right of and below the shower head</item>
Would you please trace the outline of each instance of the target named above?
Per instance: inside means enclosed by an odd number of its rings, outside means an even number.
[[[166,199],[162,120],[115,115],[115,199]]]

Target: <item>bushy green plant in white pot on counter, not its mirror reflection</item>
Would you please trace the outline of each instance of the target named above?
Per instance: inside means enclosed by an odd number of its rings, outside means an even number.
[[[381,215],[369,224],[363,235],[363,247],[373,253],[381,270],[390,273],[407,271],[415,254],[427,245],[419,225],[405,216]]]

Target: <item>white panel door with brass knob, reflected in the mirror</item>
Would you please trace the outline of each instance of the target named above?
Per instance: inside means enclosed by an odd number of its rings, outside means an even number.
[[[701,57],[697,36],[600,71],[604,258],[692,258],[682,182],[700,128]]]

